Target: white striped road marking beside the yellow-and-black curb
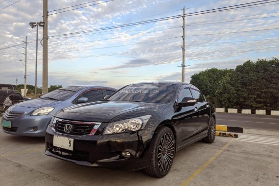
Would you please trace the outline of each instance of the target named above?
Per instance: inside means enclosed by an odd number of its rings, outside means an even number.
[[[279,139],[276,138],[240,135],[236,140],[252,142],[252,143],[260,143],[260,144],[279,145]]]

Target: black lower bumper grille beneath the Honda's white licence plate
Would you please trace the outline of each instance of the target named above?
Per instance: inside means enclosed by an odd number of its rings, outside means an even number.
[[[87,151],[82,151],[82,150],[71,151],[71,150],[55,147],[50,143],[47,143],[47,148],[49,152],[62,158],[80,161],[80,162],[87,162],[89,160],[89,152]]]

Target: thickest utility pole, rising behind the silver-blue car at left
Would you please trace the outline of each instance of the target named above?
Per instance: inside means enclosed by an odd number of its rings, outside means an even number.
[[[45,26],[43,28],[43,93],[48,92],[48,72],[47,72],[47,0],[43,2],[43,22]]]

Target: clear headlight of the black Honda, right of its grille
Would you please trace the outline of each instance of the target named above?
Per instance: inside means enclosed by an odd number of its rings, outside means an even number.
[[[151,115],[146,115],[108,123],[103,134],[116,134],[122,132],[138,131],[145,127],[150,117]]]

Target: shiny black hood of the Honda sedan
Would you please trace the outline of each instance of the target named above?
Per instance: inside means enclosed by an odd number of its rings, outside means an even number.
[[[148,109],[155,105],[160,104],[128,101],[98,101],[63,109],[54,116],[69,120],[109,122],[112,118],[124,113]]]

